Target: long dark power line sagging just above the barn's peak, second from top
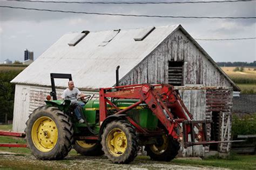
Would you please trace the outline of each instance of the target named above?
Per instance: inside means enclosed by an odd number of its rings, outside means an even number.
[[[189,17],[189,16],[160,16],[160,15],[134,15],[134,14],[122,14],[122,13],[79,12],[79,11],[63,11],[63,10],[24,8],[24,7],[3,6],[3,5],[0,5],[0,8],[48,11],[48,12],[63,12],[63,13],[80,13],[80,14],[87,14],[87,15],[123,16],[123,17],[194,18],[194,19],[256,19],[256,17],[195,17],[195,16],[190,16]]]

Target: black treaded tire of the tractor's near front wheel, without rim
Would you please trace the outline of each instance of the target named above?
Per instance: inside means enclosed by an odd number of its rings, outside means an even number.
[[[125,152],[122,155],[115,156],[109,151],[107,146],[107,136],[114,128],[119,128],[124,132],[127,139]],[[134,127],[125,120],[114,120],[107,124],[102,134],[102,147],[107,158],[115,164],[128,164],[137,157],[138,152],[138,137]]]

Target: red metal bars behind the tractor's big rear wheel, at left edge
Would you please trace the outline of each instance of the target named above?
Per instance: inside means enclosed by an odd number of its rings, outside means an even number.
[[[25,133],[0,131],[0,136],[18,137],[25,138]],[[27,144],[0,144],[0,147],[27,147]]]

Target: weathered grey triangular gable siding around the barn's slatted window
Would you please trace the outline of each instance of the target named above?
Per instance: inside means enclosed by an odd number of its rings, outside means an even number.
[[[205,86],[231,86],[205,55],[180,30],[167,37],[120,84],[168,83],[169,61],[183,61],[183,82]],[[122,69],[122,68],[121,68]]]

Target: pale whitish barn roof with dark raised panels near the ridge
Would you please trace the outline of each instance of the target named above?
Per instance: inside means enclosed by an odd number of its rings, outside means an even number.
[[[11,83],[50,86],[50,73],[71,73],[75,85],[81,89],[113,86],[118,65],[119,78],[123,78],[178,29],[237,87],[181,25],[67,33],[19,73]],[[56,85],[66,87],[66,80],[59,81]]]

